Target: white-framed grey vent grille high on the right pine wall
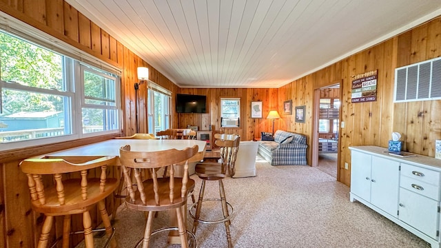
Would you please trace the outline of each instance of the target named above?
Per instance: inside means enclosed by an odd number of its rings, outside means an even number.
[[[394,102],[441,99],[441,58],[395,70]]]

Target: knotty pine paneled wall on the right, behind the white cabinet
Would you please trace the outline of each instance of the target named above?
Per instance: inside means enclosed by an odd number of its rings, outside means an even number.
[[[400,132],[404,150],[434,156],[435,139],[441,138],[441,101],[393,103],[395,68],[441,56],[441,17],[393,37],[373,47],[353,54],[327,68],[293,81],[278,90],[278,103],[293,99],[293,105],[306,105],[305,124],[287,118],[287,130],[300,132],[311,138],[313,121],[312,92],[328,85],[340,83],[341,122],[339,132],[340,158],[338,180],[351,184],[350,146],[378,145],[387,147],[391,132]],[[352,76],[378,70],[377,101],[351,103]],[[311,142],[308,141],[309,147]],[[311,150],[308,151],[308,163]]]

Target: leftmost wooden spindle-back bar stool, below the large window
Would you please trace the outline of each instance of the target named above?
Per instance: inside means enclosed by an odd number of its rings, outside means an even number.
[[[85,158],[87,157],[70,158],[72,163],[63,158],[30,158],[20,163],[21,170],[28,176],[32,209],[45,215],[37,247],[48,247],[55,216],[64,216],[63,247],[70,247],[72,214],[83,215],[85,247],[94,247],[90,209],[95,205],[98,206],[105,233],[109,237],[106,247],[109,244],[116,247],[116,242],[112,239],[114,229],[104,203],[105,198],[113,194],[118,186],[118,178],[106,176],[107,165],[114,163],[116,158],[106,156],[92,161],[85,161]],[[101,172],[95,172],[100,169]],[[48,180],[46,175],[51,175],[52,178]],[[48,182],[50,186],[45,187]]]

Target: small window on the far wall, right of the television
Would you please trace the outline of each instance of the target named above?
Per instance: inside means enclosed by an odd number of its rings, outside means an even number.
[[[220,99],[220,126],[238,127],[240,122],[240,99]]]

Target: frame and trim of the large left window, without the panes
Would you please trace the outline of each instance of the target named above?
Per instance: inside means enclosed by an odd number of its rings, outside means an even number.
[[[23,139],[21,141],[10,141],[6,143],[0,142],[0,151],[39,145],[50,145],[53,143],[72,141],[93,136],[102,136],[105,134],[118,134],[121,132],[121,70],[119,68],[107,64],[106,62],[101,61],[77,48],[73,48],[63,41],[54,41],[56,38],[50,36],[49,34],[45,34],[44,32],[41,32],[25,23],[22,23],[17,19],[13,19],[12,17],[8,17],[6,21],[5,19],[0,19],[0,31],[17,39],[21,39],[24,42],[37,45],[55,54],[60,54],[63,59],[61,70],[64,84],[63,87],[65,87],[63,90],[52,90],[45,89],[43,87],[22,85],[20,83],[0,81],[0,92],[2,92],[4,89],[8,89],[66,97],[69,99],[69,101],[68,103],[64,103],[68,106],[64,106],[63,110],[65,112],[63,127],[70,128],[70,134],[63,134],[61,136]],[[114,93],[112,92],[112,94],[114,94],[114,106],[91,105],[85,103],[86,97],[83,91],[85,84],[82,73],[82,68],[84,66],[88,68],[87,71],[91,71],[94,74],[100,74],[100,76],[105,76],[106,78],[110,77],[114,79]],[[83,107],[101,108],[114,111],[115,114],[112,116],[112,120],[114,122],[112,123],[113,125],[116,125],[116,128],[112,130],[83,134],[83,121],[81,118]],[[70,118],[66,118],[66,116],[69,116]],[[103,123],[103,127],[105,127],[105,123]]]

